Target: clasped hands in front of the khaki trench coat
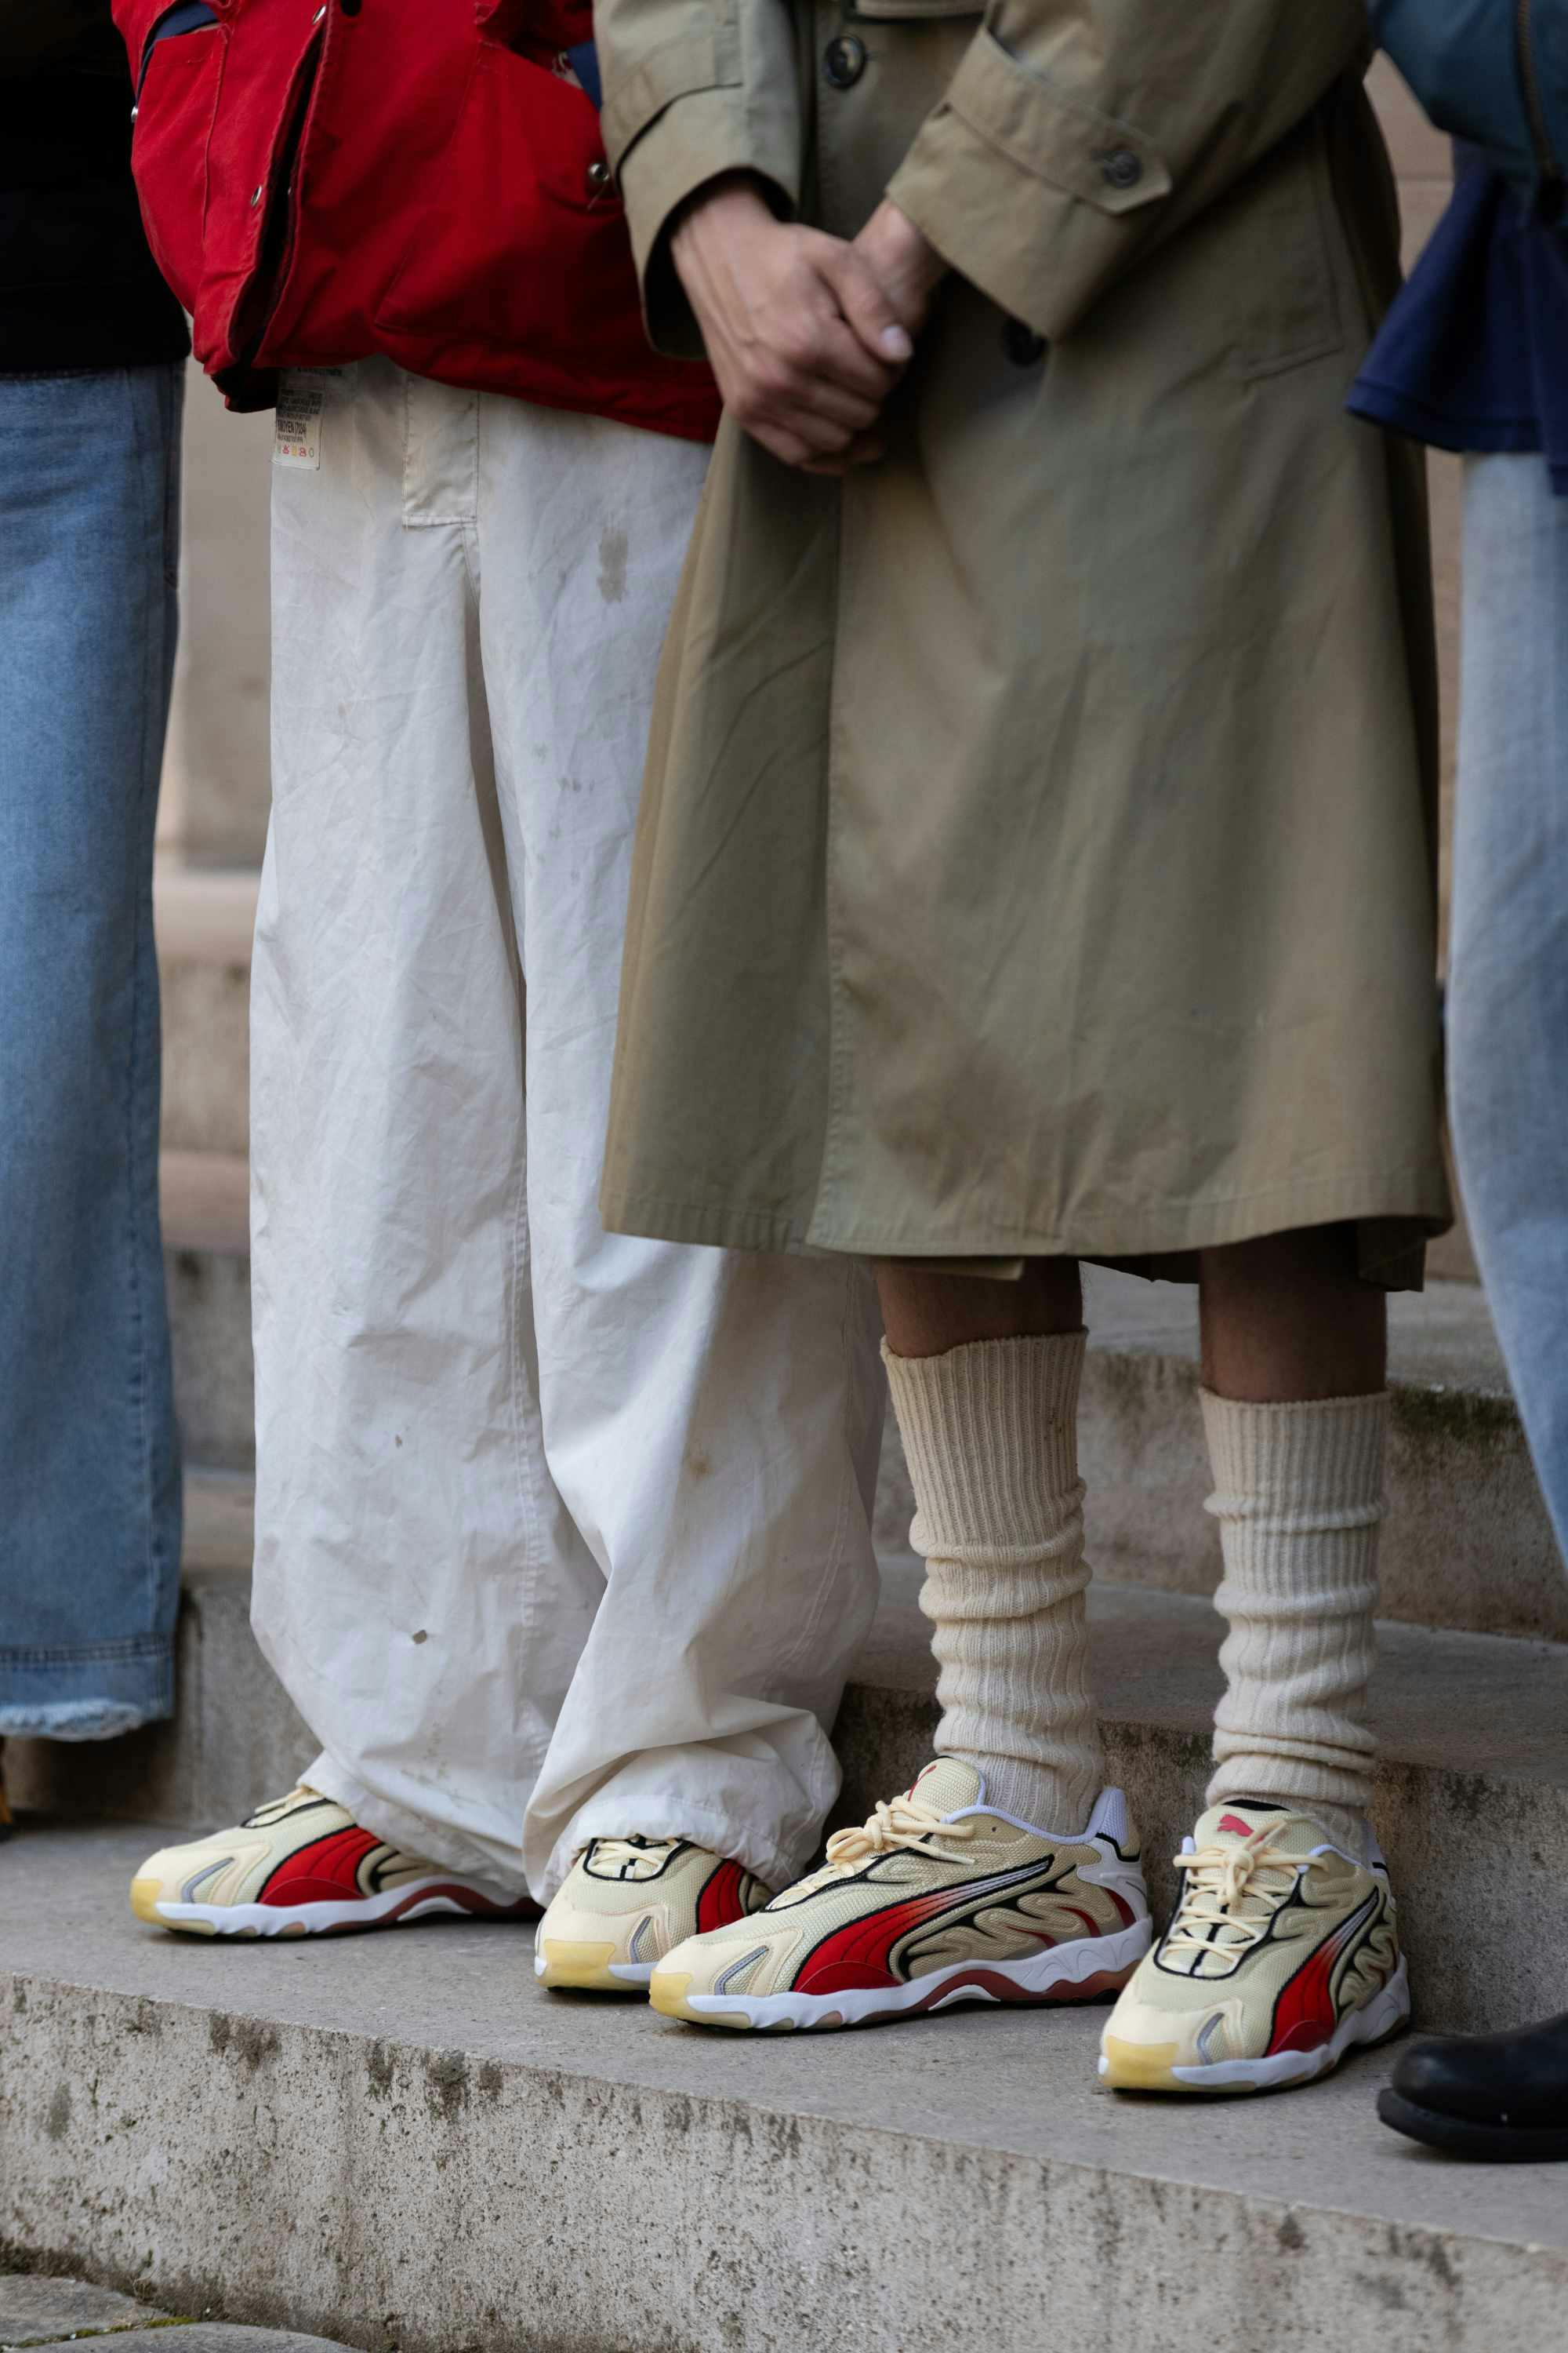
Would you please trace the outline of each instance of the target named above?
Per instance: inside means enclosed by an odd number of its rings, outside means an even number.
[[[945,264],[896,205],[849,245],[778,221],[748,174],[715,181],[670,245],[724,407],[804,473],[882,456],[882,409]]]

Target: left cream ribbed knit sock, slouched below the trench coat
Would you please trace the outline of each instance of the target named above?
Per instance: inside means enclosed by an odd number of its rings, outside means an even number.
[[[936,1751],[985,1774],[1001,1812],[1081,1831],[1105,1781],[1084,1626],[1084,1334],[882,1353],[936,1628]]]

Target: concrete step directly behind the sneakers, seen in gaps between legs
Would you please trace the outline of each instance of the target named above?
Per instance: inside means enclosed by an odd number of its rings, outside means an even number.
[[[292,1788],[315,1755],[249,1633],[249,1487],[195,1478],[181,1619],[181,1711],[115,1746],[12,1744],[24,1807],[216,1828]],[[837,1725],[837,1821],[863,1821],[931,1753],[936,1668],[922,1567],[889,1558],[882,1609]],[[1201,1807],[1220,1697],[1218,1621],[1185,1593],[1100,1584],[1095,1692],[1110,1769],[1128,1791],[1157,1906]],[[1568,1649],[1497,1635],[1380,1631],[1378,1831],[1422,2017],[1488,2028],[1561,2007],[1568,1951]]]

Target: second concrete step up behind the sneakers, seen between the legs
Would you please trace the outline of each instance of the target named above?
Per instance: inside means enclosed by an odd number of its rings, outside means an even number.
[[[174,1372],[190,1461],[254,1464],[244,1165],[165,1155]],[[1204,1513],[1197,1294],[1088,1268],[1081,1457],[1088,1548],[1119,1584],[1213,1593]],[[1392,1301],[1394,1438],[1382,1609],[1413,1626],[1568,1642],[1559,1562],[1497,1339],[1479,1289],[1434,1282]],[[914,1504],[889,1417],[877,1541],[900,1553]]]

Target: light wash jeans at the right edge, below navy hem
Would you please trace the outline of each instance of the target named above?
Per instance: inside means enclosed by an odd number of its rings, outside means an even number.
[[[1540,456],[1465,468],[1448,1061],[1476,1261],[1568,1553],[1568,499]]]

